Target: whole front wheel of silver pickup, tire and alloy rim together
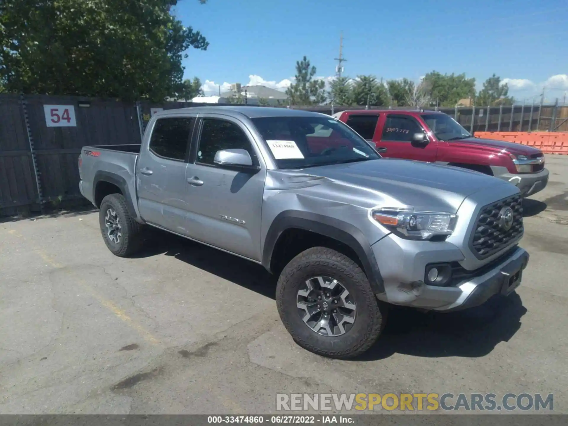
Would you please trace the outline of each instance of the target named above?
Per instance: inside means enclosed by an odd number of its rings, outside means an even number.
[[[382,331],[383,315],[365,273],[329,248],[310,248],[286,265],[276,303],[294,341],[326,357],[356,357]]]

